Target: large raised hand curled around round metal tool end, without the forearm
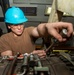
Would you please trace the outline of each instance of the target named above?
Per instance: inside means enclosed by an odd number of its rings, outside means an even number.
[[[68,33],[67,37],[70,37],[71,34],[73,33],[73,25],[71,23],[67,22],[56,22],[56,23],[47,23],[46,24],[48,33],[55,37],[57,40],[61,41],[66,41],[66,38],[63,38],[59,31],[63,28],[66,28]]]

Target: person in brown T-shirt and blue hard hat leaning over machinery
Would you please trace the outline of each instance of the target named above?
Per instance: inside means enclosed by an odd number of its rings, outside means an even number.
[[[44,50],[35,50],[35,41],[39,37],[51,35],[58,39],[60,42],[65,41],[59,34],[59,30],[67,28],[69,37],[73,32],[71,23],[56,22],[56,23],[42,23],[37,27],[24,27],[24,23],[28,19],[25,17],[22,10],[18,7],[11,7],[5,13],[5,22],[8,28],[11,29],[10,33],[4,34],[0,38],[0,53],[4,55],[15,55],[17,52],[34,53],[40,57],[45,57]]]

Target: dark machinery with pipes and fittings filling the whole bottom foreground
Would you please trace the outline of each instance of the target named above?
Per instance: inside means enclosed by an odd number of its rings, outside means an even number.
[[[0,57],[0,75],[74,75],[74,55],[61,52],[42,59],[26,53]]]

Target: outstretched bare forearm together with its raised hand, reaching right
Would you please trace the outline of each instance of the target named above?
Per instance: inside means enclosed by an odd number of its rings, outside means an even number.
[[[59,40],[60,42],[62,42],[62,41],[66,41],[66,38],[63,38],[59,34],[59,31],[63,28],[66,28],[68,31],[67,37],[70,37],[71,34],[73,34],[73,25],[67,22],[42,23],[37,26],[35,31],[37,32],[39,37],[51,35],[55,37],[57,40]]]

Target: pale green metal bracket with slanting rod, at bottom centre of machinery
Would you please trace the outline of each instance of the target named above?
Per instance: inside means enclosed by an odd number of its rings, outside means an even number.
[[[34,74],[35,75],[50,75],[49,68],[43,67],[41,64],[41,61],[38,57],[38,55],[35,55],[36,61],[38,62],[38,65],[34,67]]]

